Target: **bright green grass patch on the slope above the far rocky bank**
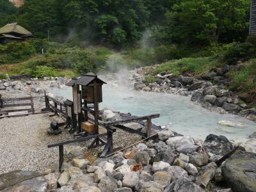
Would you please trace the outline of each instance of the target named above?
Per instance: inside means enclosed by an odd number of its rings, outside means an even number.
[[[163,63],[152,74],[156,75],[161,72],[172,72],[174,76],[187,72],[194,77],[205,76],[212,68],[221,67],[223,63],[219,61],[211,61],[211,58],[182,58],[180,60],[171,60]],[[181,66],[181,67],[180,67]]]

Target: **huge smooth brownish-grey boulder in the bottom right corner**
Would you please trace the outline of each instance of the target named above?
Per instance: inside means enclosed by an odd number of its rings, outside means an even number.
[[[221,172],[234,192],[252,192],[256,189],[256,154],[240,152],[226,161]]]

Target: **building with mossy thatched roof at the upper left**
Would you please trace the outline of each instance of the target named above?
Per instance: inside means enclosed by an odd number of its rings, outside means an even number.
[[[6,44],[8,42],[21,42],[28,38],[35,38],[35,36],[27,29],[19,26],[17,23],[6,24],[0,28],[0,43]]]

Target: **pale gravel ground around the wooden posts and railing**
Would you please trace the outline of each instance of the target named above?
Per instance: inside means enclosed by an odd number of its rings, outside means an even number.
[[[13,170],[43,172],[58,163],[58,147],[47,148],[47,145],[71,139],[72,135],[64,129],[58,136],[49,136],[46,131],[53,120],[63,122],[58,116],[49,117],[49,113],[0,119],[0,174]],[[114,148],[126,147],[140,139],[138,135],[118,130],[113,136]],[[103,147],[88,150],[86,146],[91,141],[65,145],[65,148],[80,145],[87,156],[95,159]]]

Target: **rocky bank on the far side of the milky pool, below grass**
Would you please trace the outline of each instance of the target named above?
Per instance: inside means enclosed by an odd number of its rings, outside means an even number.
[[[239,67],[239,65],[241,63],[232,67]],[[212,70],[199,79],[190,76],[175,77],[170,72],[163,72],[156,75],[155,82],[148,83],[146,79],[148,71],[156,67],[157,65],[134,70],[131,80],[134,81],[136,90],[189,96],[191,101],[201,104],[203,108],[210,111],[233,113],[256,122],[256,108],[252,108],[244,102],[248,100],[247,98],[227,89],[228,80],[225,74],[232,68],[229,65]]]

